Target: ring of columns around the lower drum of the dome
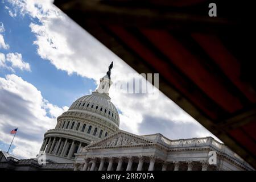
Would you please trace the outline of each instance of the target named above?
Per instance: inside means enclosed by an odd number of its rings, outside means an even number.
[[[74,154],[75,150],[75,142],[76,140],[71,140],[68,138],[61,138],[61,137],[47,137],[44,138],[42,147],[40,148],[40,151],[46,152],[46,154],[53,154],[53,155],[58,155],[58,156],[65,156],[68,151],[68,158],[71,158],[72,155]],[[79,142],[79,141],[77,141]],[[69,148],[69,145],[71,143],[71,147]],[[77,151],[80,150],[82,146],[82,142],[79,142],[79,147],[77,148]]]

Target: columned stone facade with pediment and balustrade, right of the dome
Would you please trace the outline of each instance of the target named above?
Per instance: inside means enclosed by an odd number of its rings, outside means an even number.
[[[217,164],[209,164],[209,151],[216,152]],[[253,169],[212,137],[170,140],[162,134],[138,136],[119,130],[75,155],[74,170],[82,171]]]

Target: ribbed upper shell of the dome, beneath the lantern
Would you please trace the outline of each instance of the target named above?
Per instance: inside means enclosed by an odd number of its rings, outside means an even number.
[[[100,117],[112,121],[119,127],[118,111],[106,93],[96,91],[90,95],[80,97],[69,107],[69,111],[71,110],[82,110],[86,113],[100,115]]]

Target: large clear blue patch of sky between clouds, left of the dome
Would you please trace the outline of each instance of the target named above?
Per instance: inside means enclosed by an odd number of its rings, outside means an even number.
[[[6,6],[11,7],[8,2]],[[69,106],[75,98],[83,96],[89,89],[96,89],[92,79],[76,74],[68,75],[38,56],[37,47],[33,44],[36,36],[29,27],[31,22],[39,23],[37,18],[31,18],[28,14],[18,14],[13,18],[4,6],[0,7],[0,17],[0,22],[5,25],[5,41],[10,46],[7,50],[1,49],[1,52],[22,54],[23,60],[30,64],[31,72],[16,70],[15,74],[35,85],[46,100],[58,106]],[[0,76],[4,77],[9,73],[10,71],[1,69]]]

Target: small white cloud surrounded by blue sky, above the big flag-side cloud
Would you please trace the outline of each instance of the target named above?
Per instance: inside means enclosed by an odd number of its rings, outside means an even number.
[[[11,63],[12,68],[19,68],[21,70],[31,71],[30,64],[22,60],[22,55],[18,52],[7,53],[6,61]]]

